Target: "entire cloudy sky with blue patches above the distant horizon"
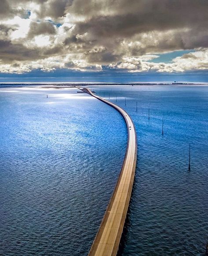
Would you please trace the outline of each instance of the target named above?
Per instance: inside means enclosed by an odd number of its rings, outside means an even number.
[[[0,81],[208,81],[208,0],[0,0]]]

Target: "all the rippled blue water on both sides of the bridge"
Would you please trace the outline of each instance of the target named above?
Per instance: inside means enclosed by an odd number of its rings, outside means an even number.
[[[120,254],[204,255],[208,86],[94,89],[117,96],[138,136]],[[124,157],[124,121],[73,89],[2,89],[0,109],[0,254],[87,255]]]

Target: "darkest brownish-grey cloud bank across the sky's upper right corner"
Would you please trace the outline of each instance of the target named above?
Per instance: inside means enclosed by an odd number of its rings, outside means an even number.
[[[81,4],[82,2],[82,4]],[[88,31],[96,38],[132,37],[138,33],[190,28],[197,33],[208,26],[207,0],[128,0],[104,1],[106,13],[99,14],[95,1],[74,1],[69,12],[85,15],[77,22],[77,33]],[[119,3],[119,4],[118,4]],[[111,14],[112,12],[112,14]]]

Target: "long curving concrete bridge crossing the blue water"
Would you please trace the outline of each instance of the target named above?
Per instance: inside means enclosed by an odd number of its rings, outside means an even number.
[[[78,89],[88,93],[89,95],[101,100],[102,102],[112,106],[125,119],[128,130],[128,144],[124,162],[117,180],[113,195],[109,201],[106,213],[102,219],[99,231],[91,246],[88,256],[116,256],[120,244],[121,234],[124,228],[128,205],[131,197],[133,186],[136,157],[137,157],[137,139],[133,121],[128,113],[120,106],[109,102],[97,95],[94,95],[88,88]]]

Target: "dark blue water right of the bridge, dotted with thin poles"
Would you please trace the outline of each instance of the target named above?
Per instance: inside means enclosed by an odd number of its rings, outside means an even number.
[[[110,93],[114,102],[117,95],[117,103],[130,113],[138,135],[122,255],[204,255],[208,241],[208,86],[99,90],[101,95],[105,91],[106,98]]]

